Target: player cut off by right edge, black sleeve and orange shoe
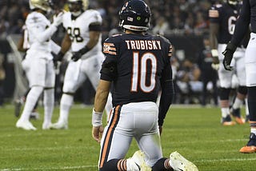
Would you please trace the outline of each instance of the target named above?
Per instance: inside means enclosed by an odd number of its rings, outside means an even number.
[[[250,137],[247,144],[240,149],[241,153],[256,153],[256,1],[243,0],[242,10],[235,25],[234,35],[223,51],[225,56],[223,66],[233,70],[230,65],[235,50],[248,32],[250,26],[250,41],[246,48],[246,86],[248,89],[248,108],[250,113]]]

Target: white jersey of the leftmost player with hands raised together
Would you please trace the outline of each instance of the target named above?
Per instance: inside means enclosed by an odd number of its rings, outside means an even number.
[[[26,18],[26,30],[30,49],[27,53],[40,51],[40,53],[50,53],[50,38],[57,30],[55,26],[50,25],[50,21],[41,13],[36,11],[30,13]],[[42,55],[38,55],[39,58]],[[51,57],[42,57],[51,58]]]

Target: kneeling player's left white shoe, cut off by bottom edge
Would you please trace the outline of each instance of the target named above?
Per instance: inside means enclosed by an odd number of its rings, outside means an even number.
[[[127,171],[151,171],[144,158],[145,154],[141,150],[136,151],[133,157],[126,160]]]

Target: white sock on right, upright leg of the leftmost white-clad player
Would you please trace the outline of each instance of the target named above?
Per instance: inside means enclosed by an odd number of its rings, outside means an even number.
[[[44,123],[51,123],[54,111],[54,89],[45,89],[43,93]]]

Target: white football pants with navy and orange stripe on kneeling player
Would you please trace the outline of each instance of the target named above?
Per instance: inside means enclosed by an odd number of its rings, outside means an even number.
[[[102,135],[99,167],[111,159],[124,158],[133,137],[145,152],[147,165],[153,166],[162,158],[156,103],[133,102],[114,107]]]

